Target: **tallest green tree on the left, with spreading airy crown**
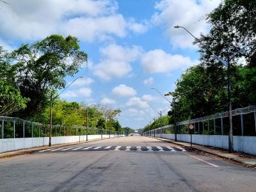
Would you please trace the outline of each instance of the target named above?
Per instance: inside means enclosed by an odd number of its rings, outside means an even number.
[[[87,54],[79,51],[74,36],[47,36],[35,44],[24,44],[11,54],[15,72],[15,86],[21,95],[29,97],[28,108],[21,116],[35,115],[44,108],[51,89],[65,87],[65,77],[74,76],[87,61]]]

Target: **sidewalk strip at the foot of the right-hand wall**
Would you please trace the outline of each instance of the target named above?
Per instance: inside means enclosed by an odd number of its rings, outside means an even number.
[[[154,138],[154,137],[153,137]],[[175,143],[177,145],[181,145],[182,147],[190,148],[190,143],[186,143],[183,141],[175,141],[175,140],[167,140],[164,138],[156,138],[157,140],[167,141],[169,143]],[[194,150],[199,150],[202,152],[206,152],[208,154],[212,154],[214,156],[218,156],[224,159],[229,159],[231,161],[236,161],[237,163],[244,164],[246,166],[256,166],[256,156],[243,154],[241,152],[234,152],[233,154],[228,153],[227,150],[214,148],[214,147],[205,147],[202,145],[192,144],[192,148]]]

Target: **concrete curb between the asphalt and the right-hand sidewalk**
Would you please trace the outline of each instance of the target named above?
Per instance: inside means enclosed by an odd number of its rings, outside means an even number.
[[[150,138],[154,138],[154,137],[150,137]],[[188,146],[188,145],[183,145],[182,143],[180,143],[180,142],[182,142],[182,141],[176,142],[176,141],[167,140],[167,139],[164,139],[164,138],[155,138],[155,139],[161,140],[161,141],[166,141],[166,142],[168,142],[168,143],[174,143],[174,144],[180,145],[180,146],[182,146],[182,147],[190,147],[190,146]],[[187,143],[184,142],[184,144],[187,144]],[[188,144],[189,144],[189,143],[188,143]],[[193,147],[193,145],[192,145],[192,148],[195,149],[195,150],[199,150],[199,151],[202,151],[202,152],[206,152],[206,153],[211,154],[211,155],[214,155],[214,156],[221,157],[221,158],[223,158],[223,159],[227,159],[227,160],[234,161],[234,162],[236,162],[236,163],[241,163],[241,164],[243,164],[244,166],[256,167],[256,159],[255,159],[255,162],[254,162],[254,163],[246,163],[246,161],[241,161],[240,159],[237,159],[237,158],[234,158],[234,157],[227,157],[227,156],[223,156],[223,155],[221,155],[221,154],[218,154],[218,153],[216,153],[216,152],[211,152],[211,151],[207,150],[207,148],[205,148],[205,150],[204,150],[204,149],[202,149],[202,148]]]

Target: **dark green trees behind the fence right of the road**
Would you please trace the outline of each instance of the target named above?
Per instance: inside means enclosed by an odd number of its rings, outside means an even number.
[[[227,111],[227,67],[214,54],[227,61],[232,58],[232,108],[256,104],[256,4],[255,1],[225,0],[206,15],[211,25],[208,34],[193,44],[199,46],[200,62],[186,70],[176,82],[169,122],[174,124],[200,116]],[[175,104],[175,113],[174,113]],[[253,120],[252,120],[253,124]],[[154,129],[156,122],[144,131]],[[160,127],[159,124],[156,127]],[[236,130],[235,130],[236,132]]]

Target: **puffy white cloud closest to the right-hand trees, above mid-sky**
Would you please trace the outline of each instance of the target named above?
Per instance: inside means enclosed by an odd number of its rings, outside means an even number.
[[[178,68],[195,65],[195,61],[179,54],[168,54],[162,49],[148,51],[141,58],[141,64],[146,72],[168,73]]]

